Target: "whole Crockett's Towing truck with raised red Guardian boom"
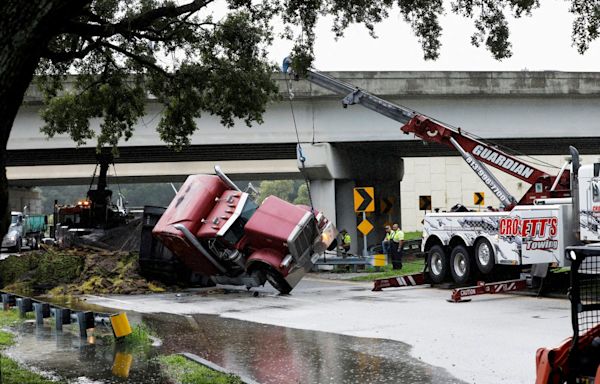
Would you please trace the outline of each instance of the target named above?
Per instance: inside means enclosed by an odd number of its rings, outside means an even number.
[[[288,58],[283,71],[299,79],[291,71]],[[325,73],[308,69],[305,78],[344,95],[344,108],[360,104],[401,123],[405,134],[456,149],[500,200],[502,210],[498,212],[470,212],[458,204],[452,212],[426,214],[422,251],[427,254],[427,274],[433,283],[451,278],[465,285],[476,272],[487,277],[498,266],[516,271],[528,266],[532,276],[542,278],[550,266],[569,265],[564,257],[567,246],[600,240],[600,163],[579,167],[575,148],[571,148],[573,160],[565,162],[560,172],[552,176],[460,128],[383,100]],[[531,187],[517,200],[486,164]]]

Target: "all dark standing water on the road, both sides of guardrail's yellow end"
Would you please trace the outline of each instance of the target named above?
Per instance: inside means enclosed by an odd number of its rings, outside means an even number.
[[[92,383],[166,382],[155,357],[177,352],[195,353],[263,384],[463,383],[444,369],[410,357],[410,347],[396,341],[214,315],[130,317],[153,329],[162,346],[126,350],[81,340],[76,333],[57,334],[48,324],[36,329],[27,323],[19,331],[17,346],[7,352],[26,365],[86,384],[88,379]]]

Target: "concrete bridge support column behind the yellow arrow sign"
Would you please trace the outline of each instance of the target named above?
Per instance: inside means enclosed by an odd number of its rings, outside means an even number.
[[[367,245],[381,242],[385,223],[399,223],[401,158],[391,153],[361,151],[360,147],[342,150],[329,143],[303,144],[302,155],[305,161],[298,161],[298,168],[310,180],[313,205],[339,230],[348,231],[352,253],[362,254],[364,241],[357,229],[362,215],[354,212],[355,187],[375,188],[375,212],[367,214],[374,229],[367,236]]]

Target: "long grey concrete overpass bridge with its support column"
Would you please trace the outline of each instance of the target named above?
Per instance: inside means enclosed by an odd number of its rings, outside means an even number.
[[[600,73],[332,75],[525,154],[563,155],[568,145],[579,147],[584,154],[600,153]],[[217,118],[203,117],[197,121],[192,145],[182,152],[172,152],[160,142],[156,127],[161,106],[148,100],[146,116],[137,123],[133,138],[121,147],[117,177],[123,182],[181,180],[190,173],[210,172],[220,163],[234,179],[299,178],[298,135],[315,205],[352,232],[356,222],[350,208],[352,187],[376,185],[378,198],[395,200],[390,214],[374,217],[380,225],[400,215],[398,184],[404,164],[411,159],[457,155],[402,135],[397,123],[363,107],[343,109],[338,95],[304,81],[292,83],[290,103],[284,78],[280,75],[277,81],[282,99],[268,106],[264,124],[248,128],[240,122],[226,129]],[[87,183],[95,163],[94,144],[75,149],[67,137],[46,139],[39,132],[43,124],[39,109],[39,94],[30,89],[9,140],[11,184]],[[99,121],[91,124],[97,129]],[[403,185],[408,183],[412,182],[406,180]],[[429,182],[429,189],[435,189],[433,184]]]

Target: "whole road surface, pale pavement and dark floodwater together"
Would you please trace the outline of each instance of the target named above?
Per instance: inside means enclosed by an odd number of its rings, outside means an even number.
[[[535,380],[537,348],[570,334],[564,299],[493,295],[452,304],[448,290],[371,287],[308,278],[289,296],[270,287],[89,296],[84,307],[128,310],[163,345],[120,350],[26,324],[8,353],[78,384],[161,383],[152,357],[177,352],[264,384],[518,384]]]

